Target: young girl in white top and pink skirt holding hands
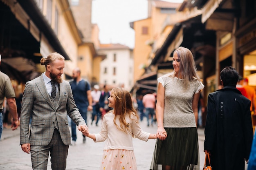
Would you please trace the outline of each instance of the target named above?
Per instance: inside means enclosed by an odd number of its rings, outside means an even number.
[[[124,88],[112,89],[108,106],[114,110],[104,115],[101,132],[87,135],[94,142],[107,140],[100,170],[137,170],[132,137],[147,141],[157,136],[141,130],[132,97]]]

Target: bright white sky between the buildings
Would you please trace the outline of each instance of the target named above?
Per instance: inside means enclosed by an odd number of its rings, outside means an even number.
[[[148,0],[92,0],[92,23],[99,26],[101,44],[120,43],[134,48],[135,33],[130,22],[147,17]]]

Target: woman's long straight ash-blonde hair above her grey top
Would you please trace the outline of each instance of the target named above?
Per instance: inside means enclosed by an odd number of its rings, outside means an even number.
[[[183,85],[185,89],[189,87],[189,82],[191,80],[198,79],[200,81],[200,78],[196,73],[197,69],[191,51],[185,47],[180,46],[173,53],[176,53],[180,59],[180,71],[178,74],[181,74],[183,77]],[[176,74],[177,73],[173,71],[172,76],[174,77]]]

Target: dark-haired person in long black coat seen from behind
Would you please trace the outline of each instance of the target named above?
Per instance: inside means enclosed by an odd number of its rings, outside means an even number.
[[[212,170],[244,170],[253,140],[251,101],[236,88],[235,68],[225,67],[220,80],[222,89],[208,96],[204,152]]]

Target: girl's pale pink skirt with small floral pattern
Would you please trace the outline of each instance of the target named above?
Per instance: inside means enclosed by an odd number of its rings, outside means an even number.
[[[137,170],[133,150],[103,150],[100,170]]]

